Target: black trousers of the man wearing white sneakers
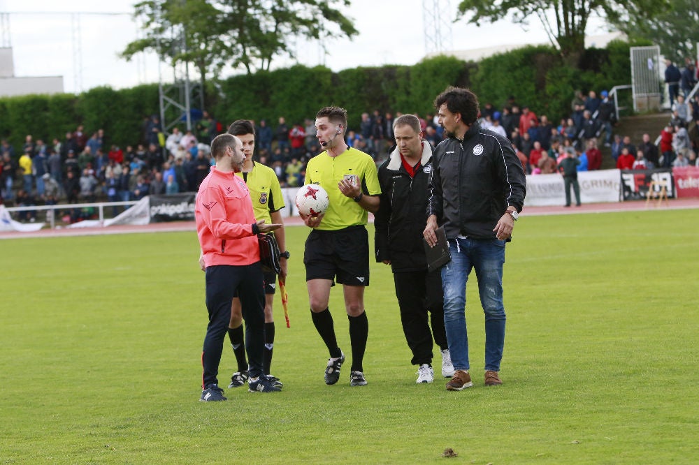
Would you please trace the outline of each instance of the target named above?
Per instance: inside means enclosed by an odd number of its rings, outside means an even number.
[[[394,283],[403,333],[412,350],[410,362],[414,365],[432,363],[433,338],[440,349],[448,348],[440,272],[396,272]]]

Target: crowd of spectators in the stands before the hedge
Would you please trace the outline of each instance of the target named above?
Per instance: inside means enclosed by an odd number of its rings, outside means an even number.
[[[683,69],[684,72],[684,69]],[[578,171],[598,170],[603,155],[598,145],[609,147],[620,169],[651,169],[696,165],[699,147],[699,96],[686,103],[684,84],[678,83],[672,115],[657,140],[644,134],[632,142],[614,134],[616,111],[606,90],[575,92],[570,114],[558,124],[547,115],[536,115],[528,105],[510,97],[496,109],[482,105],[480,124],[507,136],[527,174],[560,171],[560,162],[575,156]],[[689,85],[689,84],[687,84]],[[394,145],[393,121],[400,112],[366,112],[359,126],[349,128],[345,137],[381,163]],[[416,115],[424,139],[437,145],[445,137],[433,114]],[[273,127],[268,121],[253,121],[257,131],[256,160],[275,171],[282,187],[303,184],[305,165],[321,152],[315,137],[315,121],[306,118],[287,124],[279,117]],[[191,131],[178,127],[163,132],[157,116],[143,120],[143,131],[134,145],[124,149],[110,144],[102,129],[88,133],[83,126],[54,138],[50,144],[27,135],[21,149],[0,141],[0,200],[14,205],[55,205],[108,200],[139,200],[145,195],[194,192],[212,165],[209,144],[225,126],[208,112]],[[115,210],[116,211],[116,210]],[[23,219],[33,219],[27,212]]]

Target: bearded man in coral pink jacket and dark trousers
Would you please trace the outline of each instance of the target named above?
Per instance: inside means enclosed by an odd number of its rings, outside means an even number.
[[[223,342],[231,320],[231,301],[238,292],[250,360],[250,392],[279,391],[264,376],[264,288],[257,235],[280,224],[255,221],[250,191],[235,175],[245,163],[243,144],[235,135],[221,134],[211,142],[216,160],[196,195],[196,234],[206,266],[206,309],[209,323],[201,353],[201,401],[224,401],[217,374]]]

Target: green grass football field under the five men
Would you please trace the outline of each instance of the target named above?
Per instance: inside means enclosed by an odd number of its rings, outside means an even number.
[[[211,404],[194,232],[0,241],[0,463],[696,463],[698,230],[696,210],[523,217],[507,246],[504,385],[483,385],[470,286],[475,383],[447,392],[442,378],[415,384],[391,272],[375,263],[369,384],[350,388],[345,370],[324,384],[308,230],[288,228],[291,328],[277,300],[272,365],[284,391]],[[349,353],[342,302],[334,288]],[[222,384],[234,367],[226,342]]]

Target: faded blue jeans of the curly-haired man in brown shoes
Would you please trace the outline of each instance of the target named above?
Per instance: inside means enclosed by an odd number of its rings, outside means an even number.
[[[478,294],[485,313],[485,369],[500,371],[505,346],[503,265],[505,241],[456,238],[449,240],[452,261],[442,267],[444,324],[454,369],[467,371],[466,281],[475,268]]]

